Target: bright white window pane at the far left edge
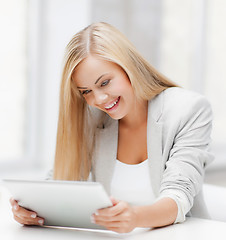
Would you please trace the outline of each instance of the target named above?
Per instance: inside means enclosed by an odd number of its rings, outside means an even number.
[[[26,0],[0,1],[0,29],[0,163],[3,163],[25,154]]]

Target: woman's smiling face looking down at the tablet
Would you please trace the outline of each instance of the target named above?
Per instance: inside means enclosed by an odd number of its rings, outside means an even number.
[[[113,119],[126,117],[135,107],[136,98],[130,80],[115,63],[88,56],[76,67],[72,79],[87,104]]]

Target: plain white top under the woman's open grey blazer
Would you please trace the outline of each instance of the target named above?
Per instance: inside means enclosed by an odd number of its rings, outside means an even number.
[[[116,160],[111,195],[131,205],[148,205],[155,201],[149,176],[148,160],[125,164]]]

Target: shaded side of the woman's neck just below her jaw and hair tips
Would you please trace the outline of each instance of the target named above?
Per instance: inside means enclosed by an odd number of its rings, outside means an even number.
[[[120,125],[128,129],[137,129],[147,124],[148,101],[137,102],[133,111],[119,121]]]

